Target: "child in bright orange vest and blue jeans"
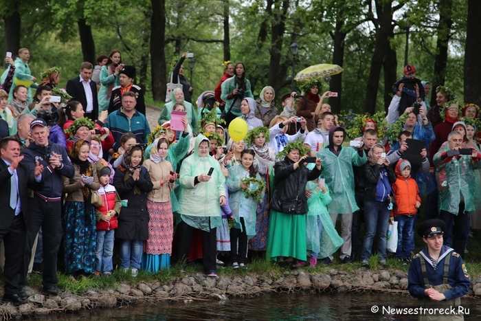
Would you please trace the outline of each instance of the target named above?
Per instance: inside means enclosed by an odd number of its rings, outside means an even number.
[[[392,192],[396,199],[396,207],[391,211],[390,223],[392,220],[398,222],[398,242],[396,257],[405,265],[411,261],[411,252],[414,252],[413,224],[414,217],[421,206],[419,188],[411,175],[411,163],[401,159],[394,170],[396,181],[392,184]]]

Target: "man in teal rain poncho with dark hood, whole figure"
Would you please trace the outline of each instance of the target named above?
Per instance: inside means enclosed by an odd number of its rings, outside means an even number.
[[[322,177],[326,179],[325,184],[333,198],[328,208],[334,224],[337,214],[342,214],[341,234],[344,244],[341,247],[340,258],[342,263],[350,263],[353,212],[359,210],[354,196],[353,166],[363,166],[367,162],[367,157],[362,145],[358,148],[342,146],[344,137],[346,131],[342,127],[331,127],[328,146],[318,151],[316,156],[322,158],[324,167]]]

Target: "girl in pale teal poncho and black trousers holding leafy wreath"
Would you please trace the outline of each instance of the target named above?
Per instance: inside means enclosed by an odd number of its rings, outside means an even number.
[[[230,257],[234,269],[245,266],[247,241],[256,235],[256,210],[259,202],[245,194],[245,190],[256,188],[256,184],[245,184],[242,181],[245,177],[261,179],[254,166],[255,155],[251,149],[242,151],[240,164],[229,168],[227,178],[229,206],[236,220],[236,225],[230,230]],[[264,197],[264,192],[265,188],[262,188],[258,194],[260,199]]]

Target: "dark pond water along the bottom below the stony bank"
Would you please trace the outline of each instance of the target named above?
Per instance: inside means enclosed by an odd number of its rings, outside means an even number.
[[[372,313],[376,306],[377,313]],[[384,309],[383,309],[384,307]],[[68,321],[173,321],[173,320],[418,320],[412,314],[388,313],[390,308],[416,308],[417,300],[399,294],[267,294],[226,301],[160,302],[117,309],[96,309],[60,315]],[[465,320],[478,320],[481,300],[463,299]],[[457,311],[457,310],[456,310]]]

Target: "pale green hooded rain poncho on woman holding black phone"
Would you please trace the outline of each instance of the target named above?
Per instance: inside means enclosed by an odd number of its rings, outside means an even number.
[[[211,228],[222,225],[219,197],[225,197],[225,177],[214,157],[199,155],[199,144],[203,140],[208,142],[210,148],[208,138],[199,135],[195,139],[194,153],[182,162],[179,178],[179,214],[180,219],[188,225],[209,232]],[[195,177],[207,174],[211,167],[214,168],[212,178],[194,185]]]

